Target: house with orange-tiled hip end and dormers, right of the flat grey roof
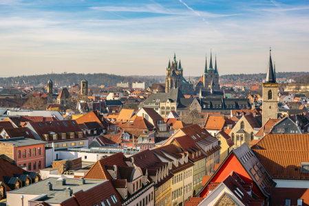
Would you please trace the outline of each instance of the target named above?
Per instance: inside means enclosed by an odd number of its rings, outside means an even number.
[[[105,157],[94,163],[85,174],[85,179],[106,179],[113,183],[122,198],[122,205],[154,204],[153,182],[148,181],[147,169],[134,165],[133,158],[122,152]]]

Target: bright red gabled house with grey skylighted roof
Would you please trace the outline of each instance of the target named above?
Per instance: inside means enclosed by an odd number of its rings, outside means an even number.
[[[211,194],[211,189],[215,185],[222,183],[231,172],[237,173],[244,183],[250,184],[251,195],[262,201],[267,200],[270,196],[266,192],[265,187],[275,187],[276,185],[266,172],[262,163],[255,156],[255,153],[246,144],[242,144],[242,146],[235,148],[228,154],[228,157],[215,170],[202,190],[198,192],[197,196],[205,198]]]

